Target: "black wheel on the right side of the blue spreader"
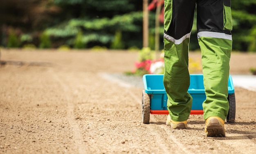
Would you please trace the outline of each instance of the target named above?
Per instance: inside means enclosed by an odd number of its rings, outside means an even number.
[[[229,100],[229,113],[227,114],[227,122],[234,123],[236,118],[236,97],[235,93],[230,94],[227,99]]]

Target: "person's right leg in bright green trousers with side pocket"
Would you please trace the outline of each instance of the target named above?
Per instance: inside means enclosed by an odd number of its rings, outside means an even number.
[[[227,87],[232,50],[230,0],[198,0],[197,27],[206,94],[204,119],[219,117],[224,128],[229,110]]]

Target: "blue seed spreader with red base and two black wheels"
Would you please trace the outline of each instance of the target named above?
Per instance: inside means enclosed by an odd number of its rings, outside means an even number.
[[[144,83],[144,90],[142,92],[143,123],[149,123],[150,114],[169,114],[166,107],[167,95],[164,89],[163,77],[164,75],[162,74],[145,74],[142,78]],[[233,123],[236,116],[236,99],[231,75],[229,75],[227,88],[229,93],[229,113],[227,115],[227,122]],[[206,95],[204,92],[202,74],[190,75],[190,86],[188,92],[193,98],[190,114],[203,114],[202,103],[206,99]]]

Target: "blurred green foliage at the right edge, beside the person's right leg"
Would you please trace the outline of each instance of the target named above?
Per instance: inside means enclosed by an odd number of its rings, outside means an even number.
[[[233,49],[256,52],[256,0],[232,0]]]

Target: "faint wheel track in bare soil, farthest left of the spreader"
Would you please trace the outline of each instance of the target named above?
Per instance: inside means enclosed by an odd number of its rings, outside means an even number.
[[[69,89],[72,89],[70,85],[68,85],[66,80],[64,80],[63,76],[62,78],[60,75],[56,73],[56,71],[53,71],[52,69],[50,70],[52,76],[54,77],[54,80],[61,85],[64,91],[64,97],[66,98],[68,105],[67,105],[67,120],[70,123],[72,127],[72,132],[73,132],[73,141],[76,143],[77,149],[79,154],[84,154],[84,152],[90,152],[89,147],[84,144],[84,138],[81,133],[81,130],[79,129],[79,125],[75,121],[75,116],[74,116],[74,100],[72,99],[72,92]],[[76,149],[76,148],[75,148]]]

